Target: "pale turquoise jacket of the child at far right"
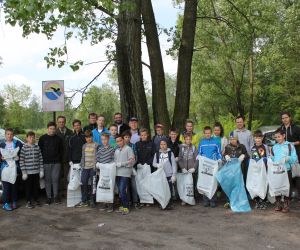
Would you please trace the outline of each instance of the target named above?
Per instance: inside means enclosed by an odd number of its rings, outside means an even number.
[[[288,146],[288,144],[290,144],[290,146]],[[271,151],[272,151],[272,155],[273,155],[272,156],[273,162],[280,163],[280,162],[285,161],[286,157],[288,158],[288,161],[284,163],[284,165],[288,171],[291,170],[292,166],[298,160],[294,145],[287,141],[282,144],[276,143],[272,147]]]

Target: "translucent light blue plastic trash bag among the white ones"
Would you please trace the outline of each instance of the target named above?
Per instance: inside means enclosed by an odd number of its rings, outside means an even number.
[[[241,163],[234,158],[227,162],[216,174],[223,191],[230,201],[233,212],[250,212],[244,179],[241,171]]]

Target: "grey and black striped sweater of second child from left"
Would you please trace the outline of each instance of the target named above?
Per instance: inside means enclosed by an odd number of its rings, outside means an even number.
[[[38,174],[44,170],[40,147],[24,144],[20,153],[20,168],[23,174]]]

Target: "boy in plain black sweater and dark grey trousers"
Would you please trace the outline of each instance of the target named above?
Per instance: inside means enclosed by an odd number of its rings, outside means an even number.
[[[64,144],[63,140],[55,134],[55,131],[55,122],[48,122],[47,134],[42,135],[38,142],[44,163],[45,187],[47,193],[46,205],[50,205],[52,202],[52,189],[55,204],[60,203],[58,198],[58,186]]]

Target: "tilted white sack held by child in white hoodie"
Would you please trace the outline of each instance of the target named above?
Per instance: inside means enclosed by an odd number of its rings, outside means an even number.
[[[164,169],[159,168],[151,175],[146,176],[142,185],[165,209],[171,199],[171,192]]]

